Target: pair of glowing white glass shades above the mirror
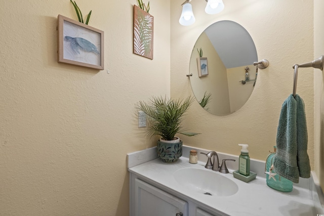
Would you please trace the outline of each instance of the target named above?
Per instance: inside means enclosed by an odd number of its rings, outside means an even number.
[[[224,9],[223,0],[206,0],[207,5],[205,8],[205,12],[207,14],[217,14]],[[190,0],[186,0],[182,3],[182,13],[179,19],[179,23],[181,25],[191,25],[193,24],[196,19],[193,16],[192,6],[190,4]]]

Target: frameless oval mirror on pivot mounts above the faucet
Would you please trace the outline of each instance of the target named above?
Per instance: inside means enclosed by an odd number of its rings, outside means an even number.
[[[198,37],[190,57],[192,92],[215,115],[228,115],[250,98],[257,78],[257,50],[249,32],[236,22],[210,25]]]

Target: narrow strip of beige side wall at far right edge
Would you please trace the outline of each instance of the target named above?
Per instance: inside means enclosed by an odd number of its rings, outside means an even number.
[[[314,1],[314,58],[324,54],[324,2]],[[324,191],[324,75],[314,70],[314,158],[315,172]]]

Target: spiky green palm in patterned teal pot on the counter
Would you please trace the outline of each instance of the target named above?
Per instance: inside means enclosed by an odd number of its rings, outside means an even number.
[[[175,163],[182,155],[182,140],[176,134],[194,136],[197,133],[185,133],[181,125],[183,114],[194,101],[190,96],[185,100],[173,100],[166,97],[152,97],[149,102],[140,101],[137,108],[143,111],[150,121],[147,135],[159,135],[157,155],[163,162]]]

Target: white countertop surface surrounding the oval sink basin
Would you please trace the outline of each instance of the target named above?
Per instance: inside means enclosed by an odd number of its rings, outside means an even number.
[[[266,180],[259,175],[249,183],[235,179],[231,169],[229,174],[217,174],[224,176],[238,186],[238,191],[231,196],[208,196],[198,194],[180,185],[173,174],[176,170],[185,167],[206,169],[205,162],[198,161],[197,164],[189,163],[187,157],[182,156],[177,163],[167,164],[159,158],[144,162],[129,168],[129,171],[143,179],[153,181],[160,188],[170,190],[176,194],[207,205],[215,212],[222,212],[228,215],[316,215],[323,212],[315,212],[310,190],[294,185],[292,192],[276,191],[266,185]],[[251,170],[253,171],[253,170]],[[217,184],[217,182],[215,182]]]

